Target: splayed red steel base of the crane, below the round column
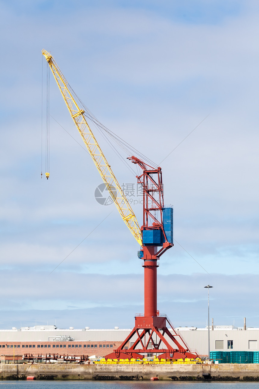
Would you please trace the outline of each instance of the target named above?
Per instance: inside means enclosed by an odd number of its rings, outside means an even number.
[[[171,334],[166,326],[166,322],[169,323],[170,327],[174,331],[174,334]],[[137,335],[137,340],[129,349],[125,349],[125,345],[130,341],[130,339],[132,339],[134,335]],[[164,335],[167,335],[167,339]],[[169,342],[173,343],[173,346]],[[160,348],[161,346],[165,346],[165,348]],[[132,329],[129,336],[127,336],[118,349],[113,350],[113,352],[106,355],[104,358],[106,361],[108,358],[143,359],[144,356],[142,354],[146,353],[160,354],[158,355],[159,360],[161,358],[185,359],[196,358],[198,356],[197,353],[193,354],[190,352],[184,340],[179,334],[176,333],[174,327],[165,315],[152,317],[139,315],[135,317],[135,327]]]

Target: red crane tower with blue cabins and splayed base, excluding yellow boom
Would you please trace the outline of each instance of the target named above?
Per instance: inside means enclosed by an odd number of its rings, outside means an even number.
[[[135,327],[129,336],[105,359],[143,358],[142,354],[146,353],[158,353],[158,359],[196,358],[197,354],[190,352],[167,315],[161,315],[157,310],[158,259],[174,245],[173,208],[164,206],[162,169],[153,168],[134,156],[128,159],[143,170],[143,174],[137,176],[137,182],[143,187],[143,246],[138,257],[143,260],[144,268],[144,314],[136,315]],[[130,342],[132,338],[137,339]],[[128,342],[133,344],[125,349]]]

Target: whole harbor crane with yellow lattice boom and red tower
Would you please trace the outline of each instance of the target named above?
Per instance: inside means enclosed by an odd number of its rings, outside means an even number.
[[[173,208],[164,205],[161,167],[150,166],[135,156],[128,158],[143,172],[137,176],[138,184],[143,187],[143,224],[139,227],[136,216],[87,123],[85,110],[76,102],[75,93],[52,55],[46,50],[42,50],[42,54],[123,221],[141,246],[138,257],[143,261],[144,268],[144,314],[136,315],[134,329],[120,347],[105,356],[106,360],[143,359],[143,354],[147,353],[159,354],[158,359],[196,358],[197,354],[189,350],[167,315],[160,314],[157,309],[158,260],[173,246]],[[134,342],[130,342],[132,339]],[[127,349],[125,347],[129,342],[130,348]]]

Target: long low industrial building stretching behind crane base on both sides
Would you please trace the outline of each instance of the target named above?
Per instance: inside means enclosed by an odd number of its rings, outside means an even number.
[[[179,327],[176,333],[189,349],[208,354],[208,328]],[[117,349],[132,329],[60,329],[34,326],[0,329],[0,354],[16,355],[59,353],[65,355],[104,356]],[[171,330],[172,331],[172,330]],[[135,339],[125,348],[130,348]],[[132,343],[132,344],[131,344]],[[152,345],[149,345],[152,348]],[[259,351],[259,328],[210,326],[211,351]]]

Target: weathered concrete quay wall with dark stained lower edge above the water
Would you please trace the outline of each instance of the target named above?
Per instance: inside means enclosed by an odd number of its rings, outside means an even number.
[[[0,364],[0,380],[259,381],[259,364]]]

